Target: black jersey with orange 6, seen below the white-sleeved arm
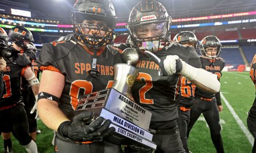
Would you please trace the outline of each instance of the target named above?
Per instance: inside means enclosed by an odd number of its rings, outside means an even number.
[[[191,83],[185,77],[180,76],[177,104],[179,107],[191,108],[195,97],[196,85]]]

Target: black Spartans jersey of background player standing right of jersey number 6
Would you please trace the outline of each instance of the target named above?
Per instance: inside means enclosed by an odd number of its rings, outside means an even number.
[[[208,72],[217,74],[218,80],[220,80],[220,78],[222,76],[221,71],[225,66],[225,61],[222,58],[216,58],[215,60],[212,61],[203,56],[200,56],[200,61],[202,63],[203,69],[207,70]],[[215,97],[215,93],[208,93],[199,88],[196,88],[195,95],[203,97],[203,98],[214,98]]]

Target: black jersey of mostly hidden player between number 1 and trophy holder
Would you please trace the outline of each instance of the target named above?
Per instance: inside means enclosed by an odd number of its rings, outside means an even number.
[[[26,54],[28,59],[30,60],[31,68],[33,68],[33,71],[35,72],[35,76],[36,76],[37,75],[37,71],[38,71],[38,67],[37,67],[37,64],[36,64],[35,53],[33,51],[27,51],[24,54]],[[24,77],[22,77],[22,89],[28,88],[28,87],[29,87],[28,81]]]

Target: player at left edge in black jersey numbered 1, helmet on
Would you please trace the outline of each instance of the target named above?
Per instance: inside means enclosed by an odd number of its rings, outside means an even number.
[[[4,95],[0,99],[0,121],[3,123],[3,138],[5,151],[12,151],[11,133],[23,145],[28,152],[37,152],[37,146],[29,135],[29,125],[26,111],[24,109],[23,97],[20,89],[20,77],[24,77],[32,88],[35,100],[39,90],[39,81],[31,70],[31,62],[23,54],[27,44],[33,41],[32,33],[16,26],[9,31],[9,39],[12,41],[13,49],[19,53],[15,61],[7,61],[4,70]]]

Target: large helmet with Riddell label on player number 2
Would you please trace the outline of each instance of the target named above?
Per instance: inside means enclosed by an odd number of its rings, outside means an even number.
[[[126,28],[130,31],[133,47],[157,52],[170,43],[171,24],[172,17],[161,3],[142,0],[132,9]],[[156,31],[150,37],[143,31],[146,26]]]

